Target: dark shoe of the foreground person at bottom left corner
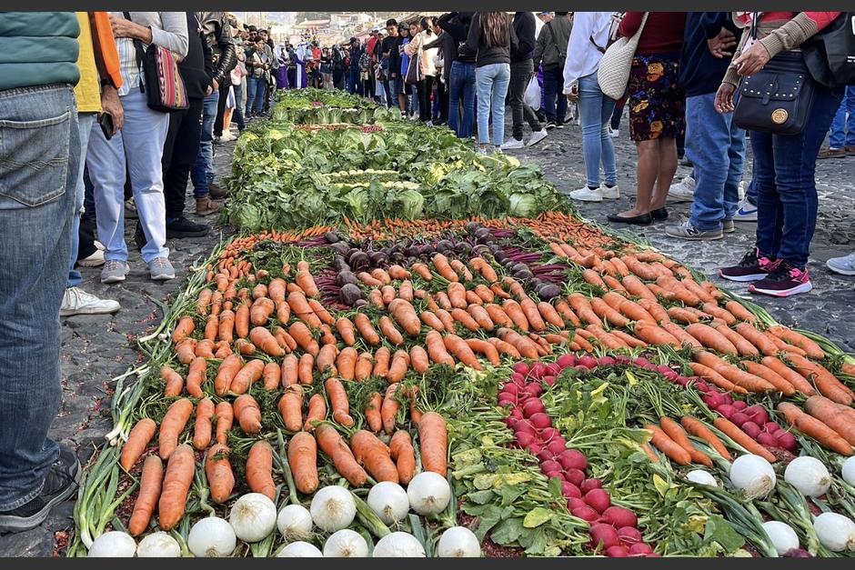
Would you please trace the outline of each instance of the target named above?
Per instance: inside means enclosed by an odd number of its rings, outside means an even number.
[[[41,525],[55,505],[74,494],[80,474],[75,452],[60,446],[59,459],[50,466],[42,492],[25,505],[0,512],[0,533],[20,533]]]

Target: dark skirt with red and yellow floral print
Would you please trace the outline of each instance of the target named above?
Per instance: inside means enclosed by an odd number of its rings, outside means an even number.
[[[679,55],[636,55],[627,86],[629,138],[678,138],[686,125],[686,95],[679,85]]]

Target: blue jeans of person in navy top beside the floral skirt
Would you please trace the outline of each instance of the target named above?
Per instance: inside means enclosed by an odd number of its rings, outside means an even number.
[[[716,94],[686,99],[686,157],[694,165],[695,198],[689,222],[699,230],[721,229],[739,206],[745,131],[730,113],[719,114]]]

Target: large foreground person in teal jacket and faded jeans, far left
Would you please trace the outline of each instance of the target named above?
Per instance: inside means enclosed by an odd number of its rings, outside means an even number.
[[[63,395],[79,33],[74,12],[0,13],[0,41],[31,46],[0,63],[0,533],[40,525],[81,476],[74,449],[47,436]]]

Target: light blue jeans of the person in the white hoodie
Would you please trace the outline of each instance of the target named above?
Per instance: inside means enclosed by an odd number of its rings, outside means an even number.
[[[618,163],[615,145],[609,135],[609,122],[615,100],[603,95],[597,74],[585,75],[578,80],[578,113],[582,127],[582,152],[588,186],[599,188],[599,165],[602,163],[606,185],[618,184]]]

